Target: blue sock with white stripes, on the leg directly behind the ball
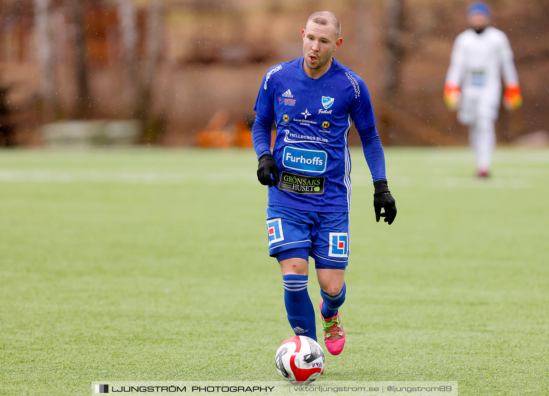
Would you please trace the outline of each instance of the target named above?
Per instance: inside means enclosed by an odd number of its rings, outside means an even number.
[[[311,337],[316,341],[315,309],[307,293],[307,275],[284,275],[284,305],[288,322],[296,336]]]

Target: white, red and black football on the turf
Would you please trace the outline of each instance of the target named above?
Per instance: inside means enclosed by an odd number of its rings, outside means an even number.
[[[308,384],[324,370],[324,352],[314,339],[294,336],[278,347],[275,363],[284,380],[291,384]]]

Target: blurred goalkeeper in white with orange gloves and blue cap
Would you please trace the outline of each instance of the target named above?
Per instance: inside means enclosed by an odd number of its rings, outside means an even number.
[[[505,82],[503,105],[516,110],[522,104],[513,51],[506,34],[488,26],[490,8],[475,2],[467,8],[467,29],[453,43],[446,74],[444,102],[457,110],[457,120],[469,126],[469,143],[477,155],[479,177],[490,171],[496,145],[495,121],[500,109],[501,76]],[[461,93],[460,93],[461,89]]]

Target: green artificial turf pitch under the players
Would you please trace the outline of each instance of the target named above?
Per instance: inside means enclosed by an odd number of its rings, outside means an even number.
[[[319,381],[549,394],[549,150],[499,149],[477,180],[466,149],[386,149],[391,226],[352,158],[347,343]],[[256,164],[251,150],[0,151],[0,394],[282,381],[274,354],[293,332]],[[317,306],[312,260],[311,278]]]

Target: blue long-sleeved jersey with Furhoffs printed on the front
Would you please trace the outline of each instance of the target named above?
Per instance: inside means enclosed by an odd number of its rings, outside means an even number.
[[[281,181],[268,187],[268,205],[320,212],[348,212],[351,206],[352,123],[360,134],[373,181],[386,180],[383,146],[368,88],[351,69],[333,59],[319,79],[303,71],[303,58],[284,62],[265,75],[252,128],[257,157],[271,152]]]

